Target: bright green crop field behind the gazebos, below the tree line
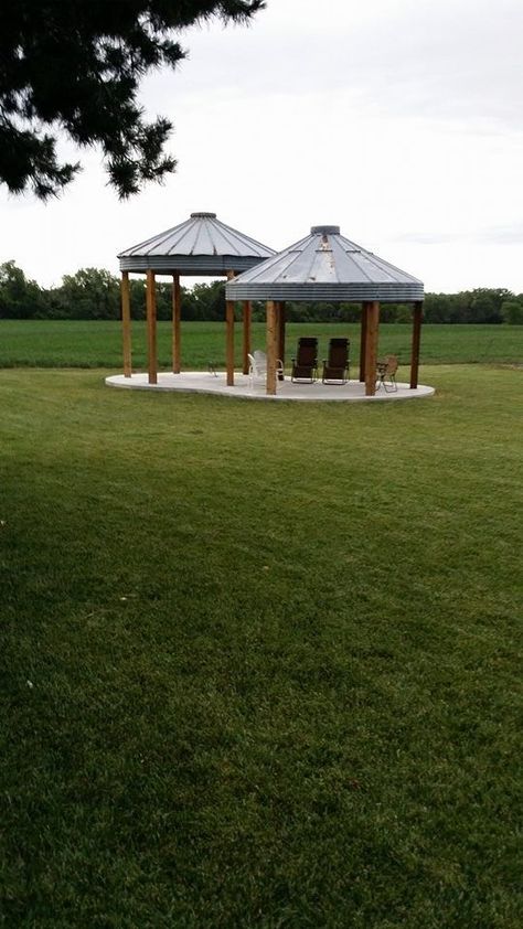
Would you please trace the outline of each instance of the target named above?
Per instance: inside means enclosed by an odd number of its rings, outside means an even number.
[[[352,357],[359,357],[360,328],[339,323],[289,323],[287,354],[296,350],[298,335],[320,339],[324,357],[331,335],[349,335]],[[412,328],[406,324],[382,325],[380,351],[399,355],[402,364],[410,357]],[[253,327],[254,348],[265,345],[265,324]],[[134,365],[146,366],[143,322],[132,324]],[[242,330],[237,325],[236,363],[241,364]],[[171,361],[171,325],[158,327],[160,364]],[[523,325],[425,325],[421,360],[426,364],[521,362]],[[188,322],[182,325],[182,362],[185,370],[204,369],[209,362],[225,366],[225,327],[223,323]],[[121,367],[121,327],[118,322],[0,321],[0,367]]]

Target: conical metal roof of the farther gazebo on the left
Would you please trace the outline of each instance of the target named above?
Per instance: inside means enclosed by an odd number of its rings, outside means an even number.
[[[215,213],[189,220],[118,255],[120,270],[214,275],[243,271],[275,255],[274,248],[226,226]]]

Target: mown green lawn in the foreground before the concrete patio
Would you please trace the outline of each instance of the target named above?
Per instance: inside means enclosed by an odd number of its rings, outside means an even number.
[[[522,377],[0,372],[0,925],[521,925]]]

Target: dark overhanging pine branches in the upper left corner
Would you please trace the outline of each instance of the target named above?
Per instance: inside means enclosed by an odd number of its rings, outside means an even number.
[[[217,15],[246,22],[263,0],[12,0],[0,4],[0,182],[45,200],[79,170],[56,152],[60,131],[99,145],[120,197],[175,168],[172,129],[143,118],[140,81],[186,52],[173,34]]]

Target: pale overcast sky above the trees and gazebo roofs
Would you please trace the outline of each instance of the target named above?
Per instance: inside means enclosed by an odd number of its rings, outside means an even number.
[[[248,28],[189,30],[189,58],[142,87],[177,173],[120,203],[88,151],[52,203],[1,186],[0,263],[45,286],[118,274],[118,252],[209,210],[276,249],[340,225],[429,291],[522,292],[522,41],[521,0],[268,0]]]

